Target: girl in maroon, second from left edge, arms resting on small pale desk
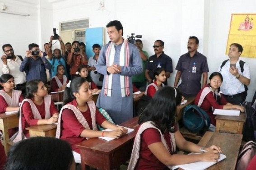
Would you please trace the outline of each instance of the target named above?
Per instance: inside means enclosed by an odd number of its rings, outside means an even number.
[[[58,110],[51,95],[47,95],[47,87],[41,80],[31,80],[26,84],[27,96],[21,103],[19,112],[19,132],[13,140],[22,140],[23,134],[29,138],[27,127],[40,124],[52,124],[58,121]]]

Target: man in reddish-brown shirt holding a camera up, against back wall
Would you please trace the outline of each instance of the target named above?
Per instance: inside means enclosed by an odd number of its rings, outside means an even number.
[[[87,65],[87,57],[84,51],[80,50],[79,41],[72,42],[71,52],[68,54],[67,64],[70,65],[70,76],[71,80],[77,77],[75,72],[79,65],[84,64]]]

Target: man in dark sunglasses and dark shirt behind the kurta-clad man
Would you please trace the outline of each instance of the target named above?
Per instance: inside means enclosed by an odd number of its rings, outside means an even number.
[[[158,67],[164,68],[166,73],[166,81],[164,82],[164,85],[167,85],[167,79],[172,73],[172,59],[168,55],[164,54],[164,42],[162,40],[156,40],[153,48],[155,55],[149,57],[149,61],[146,64],[145,77],[149,83],[152,83],[152,80],[154,79],[154,70]]]

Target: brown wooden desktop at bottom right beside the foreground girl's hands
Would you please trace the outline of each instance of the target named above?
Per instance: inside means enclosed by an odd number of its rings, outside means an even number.
[[[235,170],[241,142],[242,134],[207,131],[198,145],[203,147],[219,146],[222,149],[222,154],[227,156],[226,159],[210,166],[207,170]]]

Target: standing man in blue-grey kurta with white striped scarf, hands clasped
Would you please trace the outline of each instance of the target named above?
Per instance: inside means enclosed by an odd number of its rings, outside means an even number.
[[[107,24],[111,42],[102,47],[96,69],[104,75],[97,106],[107,110],[116,124],[133,117],[133,91],[131,76],[142,73],[140,53],[123,36],[120,21]]]

